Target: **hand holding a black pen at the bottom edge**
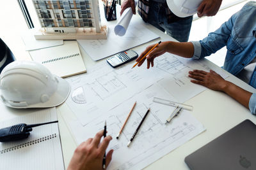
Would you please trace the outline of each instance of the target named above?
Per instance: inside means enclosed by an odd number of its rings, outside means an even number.
[[[98,132],[94,138],[87,139],[87,141],[77,146],[67,170],[102,170],[104,153],[112,139],[111,136],[106,136],[100,143],[103,133],[104,130]],[[106,169],[112,159],[112,154],[113,150],[110,150],[106,155]]]

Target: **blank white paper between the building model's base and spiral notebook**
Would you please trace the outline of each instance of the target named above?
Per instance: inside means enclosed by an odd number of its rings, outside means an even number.
[[[63,45],[63,40],[36,40],[33,34],[34,31],[34,29],[29,29],[21,35],[26,51]]]

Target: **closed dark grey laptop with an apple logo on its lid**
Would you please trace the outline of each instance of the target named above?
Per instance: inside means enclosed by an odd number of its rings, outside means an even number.
[[[256,169],[256,125],[244,120],[185,158],[195,170]]]

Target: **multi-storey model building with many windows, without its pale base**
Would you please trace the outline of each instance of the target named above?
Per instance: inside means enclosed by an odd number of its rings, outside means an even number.
[[[33,0],[33,3],[46,33],[77,33],[77,28],[102,32],[98,0]]]

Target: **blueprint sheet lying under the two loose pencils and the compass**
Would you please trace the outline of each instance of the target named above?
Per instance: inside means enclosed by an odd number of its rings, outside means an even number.
[[[204,126],[185,110],[181,111],[172,122],[164,124],[174,108],[153,103],[152,99],[155,96],[175,100],[163,88],[155,84],[125,100],[85,127],[79,122],[70,122],[69,126],[77,144],[87,138],[93,138],[96,132],[103,129],[106,120],[108,135],[113,138],[108,150],[114,150],[108,169],[143,169],[205,130]],[[137,104],[117,140],[115,137],[135,101]],[[129,139],[140,124],[147,108],[150,108],[147,118],[131,145],[127,147]]]

